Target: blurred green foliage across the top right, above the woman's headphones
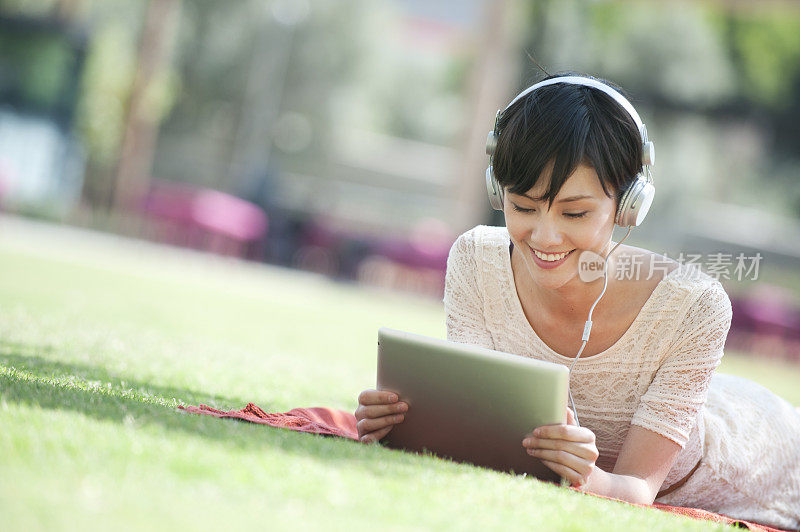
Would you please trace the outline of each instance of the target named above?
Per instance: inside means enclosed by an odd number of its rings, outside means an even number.
[[[800,75],[800,13],[775,4],[539,2],[535,50],[554,69],[587,68],[623,86],[703,108],[744,98],[784,108]],[[737,75],[738,73],[738,75]]]

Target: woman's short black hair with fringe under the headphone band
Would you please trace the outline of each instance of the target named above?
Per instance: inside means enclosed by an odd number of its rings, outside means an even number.
[[[544,79],[559,76],[591,77],[567,72]],[[626,96],[616,85],[593,79]],[[592,87],[555,83],[536,89],[501,114],[497,130],[492,158],[497,182],[512,194],[525,194],[552,161],[549,187],[537,198],[549,206],[580,164],[597,172],[603,191],[617,205],[642,168],[636,122],[613,98]]]

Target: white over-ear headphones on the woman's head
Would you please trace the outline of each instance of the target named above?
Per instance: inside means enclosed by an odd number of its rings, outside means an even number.
[[[486,168],[486,191],[489,194],[489,203],[495,210],[503,210],[503,187],[497,182],[494,176],[494,169],[492,168],[492,159],[494,157],[495,149],[497,148],[497,139],[500,132],[497,130],[497,125],[500,122],[500,117],[509,107],[514,105],[520,98],[527,96],[531,92],[540,87],[547,85],[554,85],[556,83],[567,83],[570,85],[583,85],[585,87],[592,87],[598,89],[609,96],[611,96],[625,111],[633,118],[636,126],[639,128],[639,134],[642,140],[642,170],[636,175],[633,183],[625,190],[622,199],[619,202],[617,213],[614,218],[614,223],[620,227],[636,227],[642,223],[647,211],[650,210],[650,205],[653,203],[653,196],[656,189],[653,185],[653,176],[650,167],[655,164],[656,154],[655,146],[647,139],[647,128],[639,118],[639,113],[633,108],[633,105],[625,99],[625,97],[617,92],[612,87],[602,83],[594,78],[587,78],[583,76],[560,76],[557,78],[550,78],[540,81],[519,93],[516,98],[511,100],[505,109],[497,111],[497,116],[494,121],[494,129],[489,132],[489,137],[486,139],[486,153],[489,155],[489,166]]]

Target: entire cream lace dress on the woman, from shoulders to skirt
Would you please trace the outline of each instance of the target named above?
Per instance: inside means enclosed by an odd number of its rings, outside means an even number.
[[[569,365],[534,332],[514,285],[505,227],[461,235],[447,260],[447,337]],[[722,285],[687,266],[656,286],[610,348],[578,360],[571,378],[581,424],[596,436],[597,466],[611,472],[633,425],[682,450],[658,502],[800,528],[800,413],[747,379],[715,374],[731,323]],[[580,331],[576,331],[576,336]]]

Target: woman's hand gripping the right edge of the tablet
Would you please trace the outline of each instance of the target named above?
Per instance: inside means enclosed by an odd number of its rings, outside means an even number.
[[[538,427],[525,437],[522,446],[579,489],[589,483],[599,456],[594,432],[578,427],[569,408],[566,424]]]

